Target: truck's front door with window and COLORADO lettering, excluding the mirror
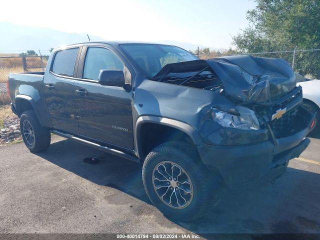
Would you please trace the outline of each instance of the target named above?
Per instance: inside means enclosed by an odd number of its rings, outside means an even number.
[[[78,96],[79,134],[133,149],[132,92],[123,87],[100,85],[98,75],[101,69],[127,70],[110,49],[88,46],[81,80],[74,82],[74,91]]]

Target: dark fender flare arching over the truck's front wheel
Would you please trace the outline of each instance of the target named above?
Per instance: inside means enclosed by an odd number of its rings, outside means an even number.
[[[202,138],[200,134],[197,132],[197,130],[193,126],[185,122],[171,119],[171,118],[161,117],[161,116],[142,115],[136,119],[135,128],[134,128],[135,152],[137,157],[140,159],[142,156],[141,156],[141,149],[140,149],[141,147],[139,145],[139,132],[140,132],[140,127],[143,123],[156,123],[156,124],[166,125],[166,126],[176,128],[186,133],[192,139],[195,145],[203,144]]]

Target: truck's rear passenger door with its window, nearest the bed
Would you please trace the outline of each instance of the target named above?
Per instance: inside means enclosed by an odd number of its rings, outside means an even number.
[[[44,76],[44,97],[54,128],[78,133],[74,113],[74,74],[81,46],[57,50]]]

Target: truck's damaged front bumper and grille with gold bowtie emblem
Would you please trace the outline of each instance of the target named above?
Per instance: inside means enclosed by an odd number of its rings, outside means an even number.
[[[208,134],[198,146],[203,162],[218,169],[229,187],[278,177],[309,144],[306,135],[315,115],[301,102],[302,90],[296,87],[268,104],[250,104],[260,129],[221,127]]]

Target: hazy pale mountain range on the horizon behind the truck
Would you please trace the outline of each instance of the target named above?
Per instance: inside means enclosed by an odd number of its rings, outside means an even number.
[[[0,36],[0,52],[3,53],[19,53],[28,49],[48,51],[51,47],[88,41],[85,33],[69,33],[45,27],[21,26],[9,22],[0,22]],[[99,36],[89,35],[89,37],[91,41],[103,40],[103,38]],[[153,42],[177,45],[186,50],[195,50],[197,47],[206,47],[204,45],[173,40],[159,40]],[[210,49],[217,48],[210,47]]]

